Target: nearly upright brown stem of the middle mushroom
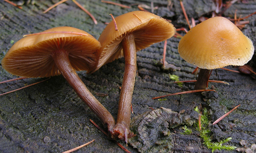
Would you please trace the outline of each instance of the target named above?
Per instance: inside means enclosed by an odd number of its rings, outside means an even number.
[[[136,74],[136,46],[133,34],[129,34],[122,40],[125,69],[122,89],[118,104],[118,114],[113,135],[127,142],[127,134],[130,134],[132,92]]]

